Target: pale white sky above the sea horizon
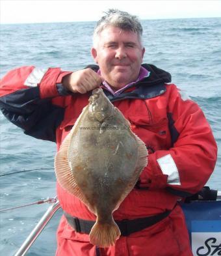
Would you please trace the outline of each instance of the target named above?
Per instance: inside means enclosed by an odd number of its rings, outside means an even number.
[[[221,0],[0,0],[0,23],[96,21],[108,8],[140,20],[221,17]]]

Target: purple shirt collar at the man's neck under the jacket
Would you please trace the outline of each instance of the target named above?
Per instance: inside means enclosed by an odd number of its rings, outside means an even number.
[[[101,74],[100,70],[98,70],[98,74],[99,75]],[[138,74],[138,78],[136,79],[136,81],[133,81],[133,82],[129,83],[128,85],[125,85],[123,88],[119,89],[118,91],[114,91],[106,81],[103,81],[103,86],[107,89],[107,91],[111,92],[113,95],[119,95],[122,91],[133,86],[138,81],[141,81],[144,78],[148,78],[149,74],[150,74],[150,72],[148,70],[146,70],[146,68],[141,66],[140,72]]]

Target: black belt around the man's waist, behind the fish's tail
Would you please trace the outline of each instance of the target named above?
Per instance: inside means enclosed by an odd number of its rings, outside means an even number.
[[[146,229],[151,225],[156,224],[157,222],[163,220],[170,214],[171,210],[166,210],[166,212],[162,212],[161,214],[157,214],[155,216],[149,216],[146,218],[138,218],[134,220],[121,220],[115,221],[118,224],[122,236],[129,236],[132,233],[137,231],[141,231],[142,229]],[[64,212],[64,216],[66,217],[68,224],[78,233],[86,233],[89,234],[95,221],[90,220],[81,220],[79,218],[75,218],[70,216],[70,214]]]

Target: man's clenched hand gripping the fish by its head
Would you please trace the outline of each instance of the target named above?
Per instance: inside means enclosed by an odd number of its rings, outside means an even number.
[[[86,68],[64,76],[62,85],[68,89],[68,91],[80,92],[83,94],[99,87],[102,81],[103,78],[94,72],[94,70]]]

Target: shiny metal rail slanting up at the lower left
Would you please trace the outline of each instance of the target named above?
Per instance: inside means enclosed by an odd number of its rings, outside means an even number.
[[[23,256],[25,255],[25,253],[27,253],[29,248],[32,246],[33,242],[36,240],[38,235],[40,235],[40,233],[44,229],[45,225],[47,225],[49,220],[51,220],[51,218],[53,217],[55,212],[59,210],[59,208],[60,208],[59,200],[56,199],[55,203],[49,206],[44,216],[42,216],[41,220],[38,221],[38,224],[36,225],[36,227],[34,227],[30,235],[26,238],[25,242],[23,242],[23,244],[21,245],[21,247],[18,249],[18,251],[14,256]]]

